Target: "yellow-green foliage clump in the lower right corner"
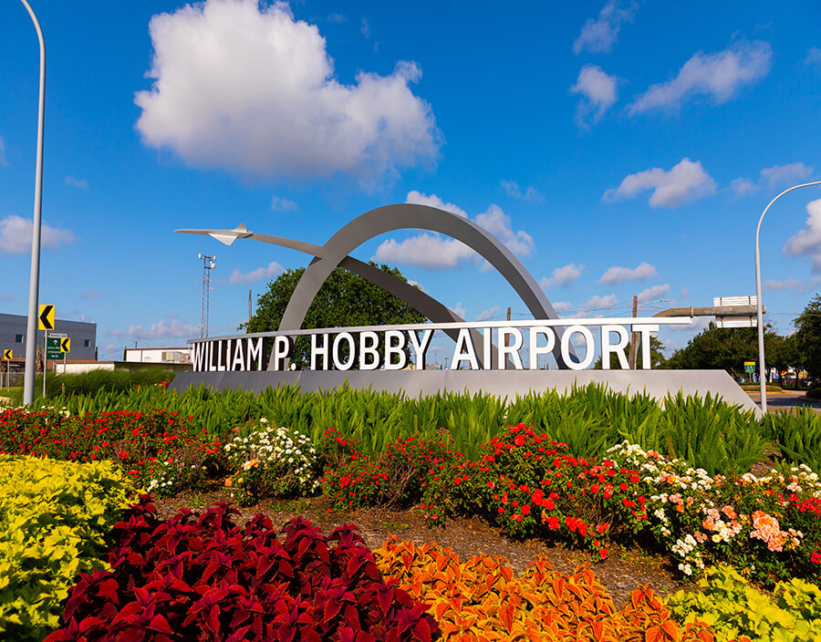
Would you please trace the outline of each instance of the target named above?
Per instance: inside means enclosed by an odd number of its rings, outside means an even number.
[[[718,642],[746,636],[753,642],[816,642],[821,639],[821,589],[792,579],[774,594],[755,590],[730,566],[714,566],[698,591],[680,591],[668,600],[681,621],[702,620]]]

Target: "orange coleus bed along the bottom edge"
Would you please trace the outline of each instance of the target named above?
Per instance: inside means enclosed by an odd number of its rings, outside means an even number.
[[[646,586],[618,610],[587,564],[572,575],[543,558],[515,575],[504,558],[474,555],[462,562],[450,548],[416,546],[393,537],[374,551],[383,575],[396,577],[429,612],[449,642],[593,640],[712,642],[696,621],[686,626]]]

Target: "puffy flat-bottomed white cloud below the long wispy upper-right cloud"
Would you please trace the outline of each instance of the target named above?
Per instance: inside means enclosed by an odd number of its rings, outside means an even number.
[[[681,159],[670,171],[658,167],[629,174],[615,190],[608,190],[603,202],[629,199],[651,190],[650,207],[676,208],[715,193],[715,181],[701,167],[701,161]]]

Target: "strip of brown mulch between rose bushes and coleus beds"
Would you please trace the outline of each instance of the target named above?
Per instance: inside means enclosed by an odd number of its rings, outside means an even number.
[[[168,518],[182,507],[202,511],[214,502],[231,502],[231,498],[226,492],[218,490],[184,492],[168,499],[157,499],[154,505],[161,518]],[[649,585],[660,595],[694,587],[677,579],[669,557],[648,554],[639,548],[613,545],[608,558],[602,561],[598,559],[598,554],[594,558],[586,551],[568,549],[561,544],[542,540],[514,541],[478,517],[449,520],[441,526],[429,527],[424,521],[424,511],[418,507],[406,511],[374,508],[351,513],[328,513],[330,506],[331,503],[321,496],[293,502],[263,501],[251,507],[235,506],[240,511],[235,521],[246,523],[256,514],[264,513],[279,529],[288,520],[302,516],[326,535],[344,523],[353,523],[359,526],[359,533],[371,549],[379,548],[390,535],[396,535],[417,545],[449,547],[462,561],[475,554],[504,557],[517,573],[524,572],[526,565],[540,553],[557,571],[564,573],[573,573],[578,564],[588,562],[608,589],[617,608],[627,604],[630,592],[639,585]]]

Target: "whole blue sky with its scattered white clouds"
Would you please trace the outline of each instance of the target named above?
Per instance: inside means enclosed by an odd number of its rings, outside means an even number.
[[[648,316],[754,294],[755,224],[821,178],[816,2],[197,5],[32,0],[46,36],[40,302],[98,324],[100,358],[210,334],[307,257],[177,228],[325,243],[427,202],[496,233],[568,316]],[[0,5],[0,310],[26,314],[38,49]],[[821,188],[763,227],[764,303],[787,333],[821,283]],[[527,315],[458,243],[390,234],[468,320]],[[661,301],[660,300],[664,300]],[[665,331],[682,347],[700,326]]]

